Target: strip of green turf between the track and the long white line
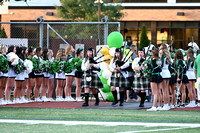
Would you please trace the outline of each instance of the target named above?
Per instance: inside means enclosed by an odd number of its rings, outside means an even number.
[[[200,123],[200,112],[0,107],[0,119]]]

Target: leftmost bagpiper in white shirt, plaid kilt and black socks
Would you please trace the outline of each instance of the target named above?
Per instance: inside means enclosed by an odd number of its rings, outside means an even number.
[[[87,50],[86,57],[83,59],[81,64],[81,69],[84,71],[82,77],[82,88],[85,91],[85,103],[83,103],[83,107],[89,106],[89,91],[92,90],[94,97],[96,98],[95,106],[99,105],[99,97],[98,90],[99,88],[103,88],[103,84],[99,78],[100,72],[99,64],[93,64],[93,48],[89,48]]]

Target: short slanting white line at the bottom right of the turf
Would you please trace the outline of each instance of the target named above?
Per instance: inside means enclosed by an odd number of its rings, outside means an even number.
[[[180,127],[180,128],[167,128],[167,129],[153,129],[153,130],[127,131],[127,132],[120,132],[120,133],[157,132],[157,131],[179,130],[179,129],[185,129],[185,128],[193,128],[193,127]]]

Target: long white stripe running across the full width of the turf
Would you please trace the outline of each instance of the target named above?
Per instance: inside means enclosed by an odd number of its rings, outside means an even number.
[[[98,122],[98,121],[52,121],[52,120],[12,120],[0,119],[0,123],[23,124],[63,124],[63,125],[99,125],[99,126],[148,126],[148,127],[200,127],[191,123],[142,123],[142,122]]]

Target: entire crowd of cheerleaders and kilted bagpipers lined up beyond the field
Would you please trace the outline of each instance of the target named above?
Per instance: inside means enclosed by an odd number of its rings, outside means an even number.
[[[94,60],[95,54],[92,48],[87,49],[85,58],[83,57],[83,49],[77,49],[77,61],[74,61],[75,58],[72,56],[74,51],[72,46],[67,46],[65,49],[61,48],[54,58],[53,51],[46,48],[10,46],[7,49],[3,45],[0,46],[0,56],[6,58],[9,65],[8,71],[2,71],[0,74],[0,105],[42,101],[84,101],[82,106],[89,106],[89,92],[91,90],[96,99],[95,106],[98,106],[100,102],[99,89],[104,87],[99,78],[101,64]],[[148,54],[144,48],[137,50],[137,46],[131,44],[129,51],[126,53],[123,48],[117,48],[110,61],[109,70],[112,72],[110,86],[114,97],[112,106],[116,106],[118,102],[119,106],[123,106],[124,90],[134,90],[141,99],[139,107],[144,107],[146,92],[151,90],[153,106],[147,111],[200,106],[200,90],[197,89],[196,91],[195,89],[199,57],[196,57],[198,59],[196,61],[192,47],[188,47],[185,56],[181,50],[169,51],[166,44],[161,44],[158,48],[154,47]],[[49,70],[46,70],[45,67],[40,70],[38,64],[45,61],[53,64],[52,67],[49,67]],[[23,62],[23,70],[19,65],[21,62]],[[72,63],[75,67],[70,68],[69,65],[65,70],[66,62]],[[43,63],[43,65],[47,64]],[[147,70],[144,68],[147,68]],[[56,70],[50,72],[51,69]],[[56,79],[56,99],[52,98],[54,79]],[[75,99],[71,96],[74,79],[76,80]],[[14,100],[11,101],[13,86],[15,86]],[[34,100],[31,99],[33,87]],[[117,87],[119,92],[116,89]],[[81,98],[82,89],[84,89],[84,100]],[[179,89],[181,103],[177,105],[176,94],[178,94]],[[190,100],[188,105],[185,104],[186,90],[189,93]],[[197,97],[199,103],[196,104]],[[162,106],[163,102],[164,105]]]

